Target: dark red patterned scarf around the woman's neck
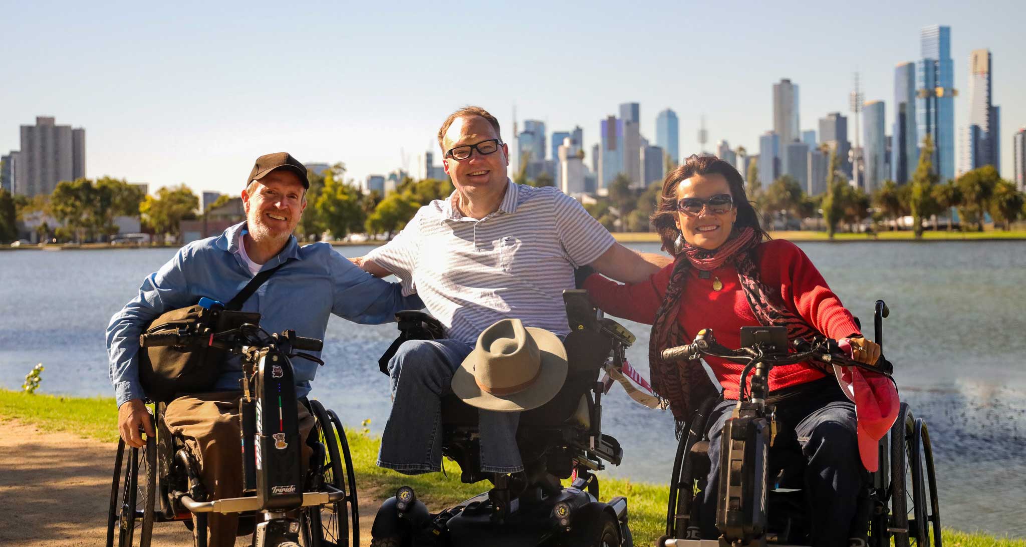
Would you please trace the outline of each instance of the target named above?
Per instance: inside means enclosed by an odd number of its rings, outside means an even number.
[[[755,266],[755,249],[761,244],[761,233],[752,228],[745,228],[719,248],[708,250],[684,243],[677,255],[666,296],[659,311],[656,312],[656,321],[652,326],[648,363],[652,387],[656,393],[669,401],[673,418],[677,422],[678,438],[686,426],[686,421],[698,408],[698,404],[707,397],[716,395],[716,387],[709,380],[699,359],[678,363],[664,361],[660,357],[664,349],[692,341],[677,319],[681,309],[680,298],[690,268],[711,271],[727,262],[734,263],[745,299],[748,300],[748,305],[759,324],[787,327],[788,340],[800,339],[811,342],[819,335],[804,319],[792,312],[777,292],[767,290],[760,281],[759,271]]]

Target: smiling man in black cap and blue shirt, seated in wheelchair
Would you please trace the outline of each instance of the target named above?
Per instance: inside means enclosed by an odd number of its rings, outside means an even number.
[[[307,205],[309,187],[306,167],[291,155],[279,152],[256,158],[242,192],[246,220],[216,237],[179,249],[111,318],[107,327],[110,376],[118,427],[127,444],[144,445],[141,427],[147,435],[154,434],[139,380],[139,336],[168,310],[194,305],[203,297],[229,302],[262,269],[279,265],[281,269],[242,305],[242,311],[261,314],[261,326],[269,333],[294,329],[302,337],[323,339],[332,313],[377,324],[394,320],[398,310],[422,307],[416,296],[403,297],[398,283],[368,275],[329,244],[299,245],[292,231]],[[305,397],[317,364],[297,360],[292,366],[297,396]],[[241,495],[241,378],[238,358],[228,359],[210,392],[179,397],[168,403],[164,415],[171,433],[181,435],[197,458],[212,499]],[[299,413],[301,434],[306,438],[314,421],[302,403]],[[211,547],[235,543],[237,518],[210,513]]]

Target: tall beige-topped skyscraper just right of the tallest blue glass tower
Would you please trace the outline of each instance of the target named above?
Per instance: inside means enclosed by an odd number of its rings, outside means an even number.
[[[998,108],[991,104],[993,70],[989,49],[969,55],[969,126],[962,135],[961,170],[993,165],[1000,170]]]

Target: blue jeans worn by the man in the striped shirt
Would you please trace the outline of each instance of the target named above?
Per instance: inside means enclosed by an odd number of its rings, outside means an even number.
[[[452,373],[474,347],[457,340],[410,340],[388,363],[392,412],[382,434],[378,466],[407,475],[441,470],[441,398],[452,393]],[[523,471],[516,429],[520,413],[478,411],[481,471]]]

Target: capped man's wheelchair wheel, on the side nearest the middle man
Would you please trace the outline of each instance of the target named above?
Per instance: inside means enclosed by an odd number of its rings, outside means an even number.
[[[304,537],[306,545],[357,547],[360,544],[359,507],[356,499],[356,475],[353,460],[349,454],[346,431],[333,411],[327,411],[317,400],[310,401],[310,409],[317,419],[316,432],[324,444],[324,462],[321,473],[324,482],[346,493],[346,497],[320,510],[304,512]]]

